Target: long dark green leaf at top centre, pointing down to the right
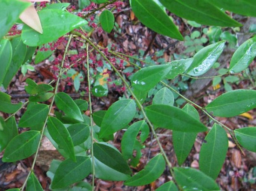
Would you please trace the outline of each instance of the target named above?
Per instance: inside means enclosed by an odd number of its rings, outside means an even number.
[[[130,0],[130,5],[135,16],[148,28],[159,34],[183,40],[178,28],[159,2],[155,0]]]

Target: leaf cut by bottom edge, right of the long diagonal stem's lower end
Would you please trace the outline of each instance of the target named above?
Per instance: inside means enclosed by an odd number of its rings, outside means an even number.
[[[180,187],[202,191],[220,190],[214,179],[194,168],[173,168],[175,180]]]

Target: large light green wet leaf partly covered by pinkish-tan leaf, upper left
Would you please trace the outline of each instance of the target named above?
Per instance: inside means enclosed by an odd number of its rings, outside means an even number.
[[[38,12],[38,16],[43,28],[43,34],[36,32],[27,25],[24,25],[21,33],[24,44],[31,47],[56,40],[78,26],[88,23],[78,16],[58,9],[41,10]]]

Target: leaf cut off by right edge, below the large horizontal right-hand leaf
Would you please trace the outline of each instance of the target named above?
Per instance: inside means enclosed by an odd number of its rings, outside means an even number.
[[[247,150],[256,152],[256,127],[243,127],[234,130],[235,138]]]

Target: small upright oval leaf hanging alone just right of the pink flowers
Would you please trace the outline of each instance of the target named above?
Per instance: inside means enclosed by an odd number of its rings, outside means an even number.
[[[102,29],[110,33],[114,28],[115,17],[111,11],[104,10],[99,16],[99,22],[101,23]]]

